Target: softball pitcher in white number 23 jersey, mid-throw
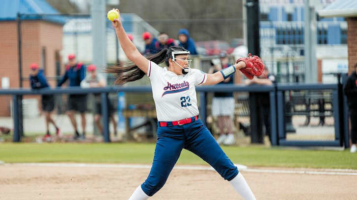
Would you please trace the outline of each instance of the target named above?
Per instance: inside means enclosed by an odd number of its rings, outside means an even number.
[[[151,171],[129,200],[147,200],[158,192],[164,186],[182,149],[192,151],[209,163],[245,200],[255,200],[243,175],[198,119],[195,91],[196,85],[217,84],[246,65],[254,69],[251,66],[253,62],[247,63],[246,58],[215,74],[205,74],[190,68],[190,51],[183,47],[170,47],[145,58],[127,37],[120,16],[112,24],[121,47],[132,62],[126,66],[109,67],[107,71],[130,71],[118,77],[115,83],[119,85],[135,81],[144,75],[150,78],[159,126]],[[158,64],[164,61],[168,67],[159,67]],[[247,70],[246,73],[250,71],[253,70]]]

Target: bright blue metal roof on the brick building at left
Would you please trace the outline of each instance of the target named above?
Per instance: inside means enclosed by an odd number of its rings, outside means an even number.
[[[60,14],[46,0],[1,0],[0,21],[14,21],[17,14],[23,14],[23,20],[47,20],[64,24],[61,16],[46,16]]]

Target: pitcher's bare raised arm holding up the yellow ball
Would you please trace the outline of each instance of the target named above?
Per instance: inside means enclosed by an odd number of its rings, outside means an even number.
[[[115,10],[118,11],[119,18],[114,19],[114,21],[111,23],[115,28],[116,36],[118,37],[120,46],[124,50],[124,53],[129,58],[129,60],[133,61],[141,71],[147,74],[148,60],[143,55],[141,55],[132,41],[130,41],[129,37],[125,33],[123,25],[121,24],[120,12],[118,9]]]

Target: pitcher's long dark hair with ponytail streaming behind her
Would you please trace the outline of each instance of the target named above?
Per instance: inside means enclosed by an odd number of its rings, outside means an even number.
[[[165,61],[166,52],[168,49],[163,49],[158,53],[149,55],[146,58],[153,61],[156,64],[161,64]],[[124,75],[118,75],[114,81],[115,85],[124,85],[127,82],[136,81],[144,77],[145,73],[137,67],[134,62],[130,61],[119,66],[108,66],[105,70],[107,73],[124,73]]]

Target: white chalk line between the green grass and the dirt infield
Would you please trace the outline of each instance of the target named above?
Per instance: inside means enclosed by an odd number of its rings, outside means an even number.
[[[150,169],[151,165],[140,164],[85,164],[85,163],[4,163],[5,166],[28,166],[28,167],[88,167],[88,168],[121,168],[121,169]],[[307,174],[307,175],[357,175],[356,170],[347,169],[326,169],[330,172],[312,170],[263,170],[247,169],[247,166],[237,165],[239,171],[254,173],[273,173],[273,174]],[[206,170],[214,171],[212,167],[204,166],[175,166],[176,170]]]

